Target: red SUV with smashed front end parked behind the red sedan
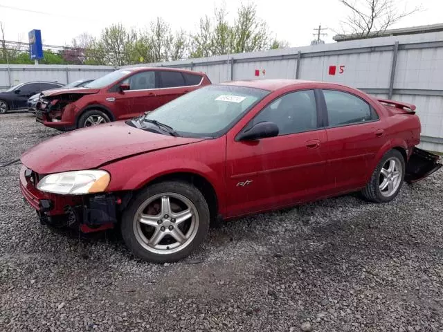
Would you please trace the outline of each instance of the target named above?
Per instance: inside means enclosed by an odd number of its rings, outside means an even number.
[[[44,92],[37,103],[37,121],[46,127],[69,131],[125,120],[208,84],[208,77],[195,71],[120,69],[79,89]]]

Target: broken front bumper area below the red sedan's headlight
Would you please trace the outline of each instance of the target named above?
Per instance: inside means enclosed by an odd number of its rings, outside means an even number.
[[[41,223],[80,228],[96,232],[114,228],[121,200],[114,194],[68,196],[48,194],[37,190],[39,174],[26,166],[20,171],[20,190],[36,211]]]

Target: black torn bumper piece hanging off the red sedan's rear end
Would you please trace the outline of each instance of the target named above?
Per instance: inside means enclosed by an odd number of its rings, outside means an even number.
[[[406,165],[404,181],[415,183],[430,176],[442,167],[442,164],[438,163],[439,159],[437,154],[414,147]]]

